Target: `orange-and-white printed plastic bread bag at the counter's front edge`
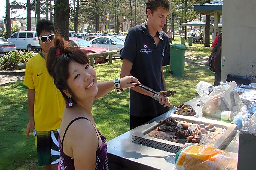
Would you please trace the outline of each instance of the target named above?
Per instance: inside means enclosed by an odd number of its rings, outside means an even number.
[[[176,153],[176,170],[236,170],[238,154],[205,145],[186,144]]]

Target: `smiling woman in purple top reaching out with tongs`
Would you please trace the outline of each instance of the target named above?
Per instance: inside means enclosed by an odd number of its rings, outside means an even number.
[[[135,83],[140,82],[131,76],[98,82],[96,71],[89,65],[84,51],[64,43],[58,35],[54,44],[46,59],[47,70],[66,102],[58,138],[59,169],[87,167],[107,170],[106,138],[96,128],[92,104],[113,89],[121,93],[123,89],[135,87]]]

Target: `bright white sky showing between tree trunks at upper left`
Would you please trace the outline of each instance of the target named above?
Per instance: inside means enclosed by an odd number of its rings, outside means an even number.
[[[16,0],[17,2],[24,2],[24,0]],[[2,18],[3,16],[5,16],[5,0],[0,0],[0,18]],[[13,0],[10,0],[10,4],[11,2],[13,2]],[[12,16],[13,15],[13,16]],[[19,17],[27,17],[27,10],[26,9],[19,9],[18,12],[16,14],[11,14],[10,12],[10,17],[17,17],[18,15],[20,15]],[[30,12],[31,17],[35,17],[35,11],[31,11]],[[45,17],[41,14],[41,17]]]

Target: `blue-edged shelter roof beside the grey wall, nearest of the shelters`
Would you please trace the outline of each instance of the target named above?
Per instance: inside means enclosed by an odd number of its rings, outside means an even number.
[[[203,15],[211,15],[214,13],[213,11],[222,11],[222,1],[196,4],[194,5],[194,10]]]

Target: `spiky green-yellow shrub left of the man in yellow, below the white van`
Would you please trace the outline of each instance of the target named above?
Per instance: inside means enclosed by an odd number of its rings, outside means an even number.
[[[34,55],[34,52],[26,50],[6,53],[0,58],[0,70],[15,70],[16,64],[26,63]]]

